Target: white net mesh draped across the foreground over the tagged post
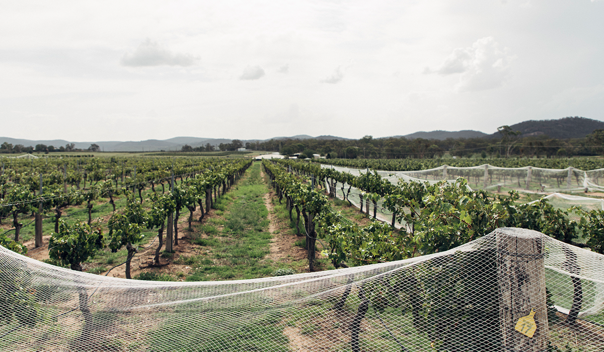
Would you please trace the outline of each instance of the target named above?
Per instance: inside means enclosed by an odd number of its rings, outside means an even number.
[[[0,248],[0,350],[602,351],[603,264],[516,228],[403,261],[195,283]]]

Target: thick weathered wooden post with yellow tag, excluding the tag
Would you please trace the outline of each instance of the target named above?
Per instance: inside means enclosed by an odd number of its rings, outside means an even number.
[[[506,352],[541,352],[547,349],[544,237],[541,232],[500,228],[497,242],[497,274],[500,287],[500,324]],[[535,309],[536,331],[532,338],[515,329],[519,319]]]

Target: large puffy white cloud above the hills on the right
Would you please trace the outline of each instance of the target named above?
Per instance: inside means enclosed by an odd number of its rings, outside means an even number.
[[[456,48],[443,64],[423,73],[440,75],[460,74],[455,90],[459,92],[484,91],[503,85],[509,77],[510,62],[515,58],[500,48],[493,37],[478,39],[471,47]]]

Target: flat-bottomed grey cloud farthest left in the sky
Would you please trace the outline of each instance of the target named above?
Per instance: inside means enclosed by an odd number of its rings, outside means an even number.
[[[122,66],[191,66],[196,58],[190,54],[175,54],[147,38],[133,53],[121,58]]]

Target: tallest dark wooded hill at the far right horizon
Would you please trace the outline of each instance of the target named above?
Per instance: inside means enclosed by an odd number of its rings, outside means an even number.
[[[604,122],[576,116],[559,120],[528,120],[513,124],[510,128],[520,131],[523,137],[546,135],[556,139],[583,138],[594,130],[604,129]],[[499,138],[500,133],[495,132],[491,136]]]

